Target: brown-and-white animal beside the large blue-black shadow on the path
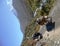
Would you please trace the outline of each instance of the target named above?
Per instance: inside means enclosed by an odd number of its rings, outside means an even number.
[[[42,16],[40,18],[37,18],[36,22],[39,25],[44,25],[44,24],[47,24],[48,22],[52,22],[52,17]]]

